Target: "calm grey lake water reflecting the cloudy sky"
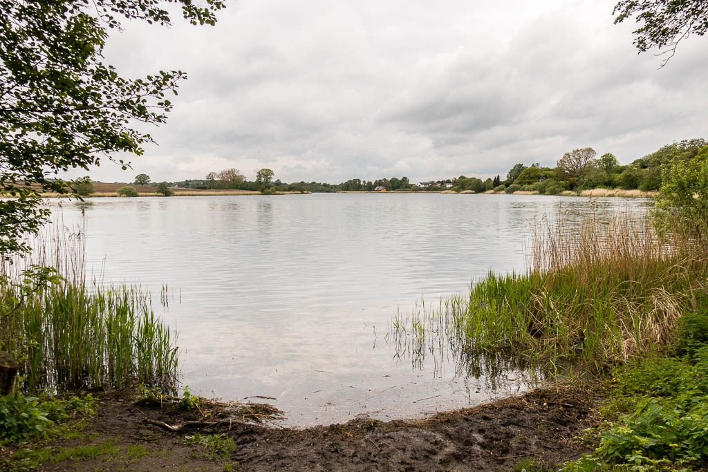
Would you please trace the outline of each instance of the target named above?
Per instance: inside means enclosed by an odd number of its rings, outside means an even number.
[[[453,356],[413,359],[389,342],[388,325],[489,270],[524,270],[537,219],[644,201],[388,193],[50,205],[67,227],[84,211],[87,259],[106,283],[152,291],[178,331],[190,391],[273,403],[287,424],[307,426],[424,415],[528,388],[523,372],[490,379],[460,372]]]

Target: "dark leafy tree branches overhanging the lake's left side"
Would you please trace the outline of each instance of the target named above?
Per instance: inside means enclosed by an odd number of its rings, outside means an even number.
[[[59,178],[89,170],[115,154],[143,154],[152,137],[131,127],[159,125],[177,94],[182,71],[143,79],[118,75],[103,62],[109,30],[122,19],[170,25],[161,8],[179,4],[193,24],[213,25],[222,0],[0,0],[0,253],[25,251],[21,235],[47,221],[41,192],[69,194]]]

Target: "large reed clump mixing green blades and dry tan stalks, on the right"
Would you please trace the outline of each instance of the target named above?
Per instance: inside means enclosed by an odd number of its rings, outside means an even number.
[[[431,336],[467,355],[602,371],[670,341],[678,318],[706,297],[707,247],[680,231],[659,237],[647,214],[543,219],[524,273],[490,272],[469,294],[396,316],[389,334],[413,350]]]

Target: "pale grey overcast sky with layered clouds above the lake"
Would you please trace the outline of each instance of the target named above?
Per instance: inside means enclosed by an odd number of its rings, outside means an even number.
[[[94,180],[258,168],[284,182],[411,181],[554,166],[592,146],[628,163],[708,137],[708,39],[636,54],[613,1],[227,0],[215,27],[126,23],[106,62],[188,73],[159,146]],[[77,174],[81,175],[81,174]]]

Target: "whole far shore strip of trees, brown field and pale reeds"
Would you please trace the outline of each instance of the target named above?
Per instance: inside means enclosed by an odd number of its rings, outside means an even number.
[[[688,161],[708,146],[705,139],[690,139],[662,146],[631,163],[621,165],[612,154],[597,156],[591,148],[574,149],[561,157],[556,167],[539,163],[517,163],[502,179],[485,180],[459,175],[457,178],[411,183],[408,177],[379,180],[350,179],[343,183],[284,183],[273,180],[275,173],[264,168],[256,179],[247,180],[236,168],[210,172],[204,179],[180,182],[152,182],[147,174],[135,176],[133,183],[92,182],[89,177],[74,181],[70,195],[79,197],[155,197],[199,195],[287,195],[322,192],[442,192],[501,195],[569,195],[581,197],[654,197],[662,184],[662,173],[675,161]],[[62,197],[65,193],[40,192],[42,197]],[[11,196],[6,194],[6,196]]]

